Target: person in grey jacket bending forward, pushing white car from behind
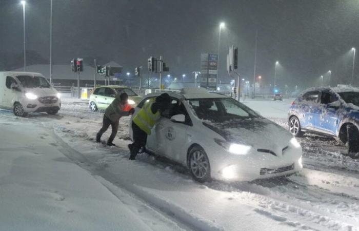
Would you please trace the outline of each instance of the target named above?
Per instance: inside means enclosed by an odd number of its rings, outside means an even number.
[[[116,98],[112,101],[112,103],[106,108],[102,128],[97,132],[96,142],[101,142],[102,134],[108,129],[111,125],[112,132],[111,136],[107,141],[107,145],[113,146],[113,140],[116,137],[118,130],[118,123],[121,117],[128,116],[134,113],[134,108],[129,106],[128,95],[126,93],[117,94]]]

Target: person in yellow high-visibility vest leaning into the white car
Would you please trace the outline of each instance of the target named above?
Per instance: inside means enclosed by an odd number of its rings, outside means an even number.
[[[163,93],[155,99],[150,99],[146,102],[133,117],[133,143],[128,145],[131,152],[130,160],[134,160],[139,149],[146,146],[147,136],[151,134],[152,127],[161,118],[161,112],[169,108],[170,104],[170,96],[167,93]]]

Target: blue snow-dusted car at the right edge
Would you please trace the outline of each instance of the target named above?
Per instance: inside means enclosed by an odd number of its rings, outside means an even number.
[[[316,132],[350,141],[349,151],[359,152],[359,88],[310,88],[293,101],[288,122],[296,137]]]

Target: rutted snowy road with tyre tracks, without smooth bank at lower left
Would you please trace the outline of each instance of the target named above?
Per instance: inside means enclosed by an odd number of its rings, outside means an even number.
[[[290,101],[245,103],[287,126],[285,118]],[[48,148],[76,163],[79,169],[85,169],[93,184],[103,185],[111,195],[119,194],[116,198],[120,201],[114,203],[127,202],[131,214],[141,219],[146,228],[359,229],[359,162],[343,156],[341,152],[345,152],[345,147],[334,140],[302,138],[304,169],[289,178],[203,185],[194,182],[186,169],[162,159],[143,154],[136,161],[129,161],[126,147],[129,118],[122,119],[114,142],[118,147],[95,143],[93,139],[102,116],[101,112],[90,112],[86,103],[64,103],[55,116],[35,114],[29,118],[14,118],[10,112],[0,111],[0,122],[25,124],[27,130],[31,126],[38,127],[39,133],[46,131],[46,139],[51,139],[46,143],[54,144]],[[3,127],[6,126],[1,125],[2,131]],[[24,132],[23,136],[30,139],[34,135]],[[104,139],[108,136],[109,132],[105,133]],[[151,209],[151,213],[138,209],[139,205]],[[106,206],[100,208],[100,213]],[[151,226],[149,220],[161,226]]]

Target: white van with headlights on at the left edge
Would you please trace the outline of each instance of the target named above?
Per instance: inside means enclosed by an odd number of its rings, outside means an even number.
[[[0,72],[0,108],[19,117],[29,112],[56,114],[61,108],[60,93],[35,72]]]

